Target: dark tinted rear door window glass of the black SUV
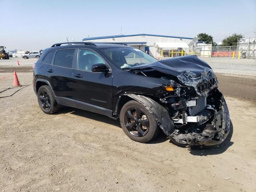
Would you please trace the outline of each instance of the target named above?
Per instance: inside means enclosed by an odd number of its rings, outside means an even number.
[[[55,54],[54,65],[72,68],[72,60],[74,57],[75,49],[62,49],[58,50]]]

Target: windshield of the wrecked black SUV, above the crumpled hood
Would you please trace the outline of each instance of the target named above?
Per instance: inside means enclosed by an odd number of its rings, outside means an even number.
[[[116,66],[122,69],[129,69],[133,66],[156,62],[157,60],[145,52],[132,48],[106,48],[102,51],[114,62]]]

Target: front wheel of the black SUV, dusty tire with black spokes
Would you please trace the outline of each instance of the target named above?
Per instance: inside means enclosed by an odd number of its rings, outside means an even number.
[[[159,133],[154,116],[137,101],[131,100],[124,104],[119,118],[124,133],[136,142],[149,142]]]

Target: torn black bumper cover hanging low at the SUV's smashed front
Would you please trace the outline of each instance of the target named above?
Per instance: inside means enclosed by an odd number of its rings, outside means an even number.
[[[230,132],[230,116],[224,97],[221,98],[222,109],[215,114],[213,122],[208,121],[202,126],[191,126],[185,132],[174,130],[168,138],[174,143],[191,148],[192,146],[217,146]]]

